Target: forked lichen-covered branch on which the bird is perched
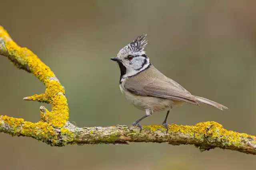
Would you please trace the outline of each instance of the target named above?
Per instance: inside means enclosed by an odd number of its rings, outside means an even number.
[[[24,98],[49,103],[52,111],[40,107],[40,121],[32,123],[24,119],[0,116],[0,132],[12,136],[32,137],[51,146],[68,144],[128,144],[127,142],[155,142],[171,145],[195,145],[200,151],[214,149],[237,150],[256,154],[256,137],[245,133],[228,131],[214,121],[195,126],[171,124],[166,134],[162,125],[146,125],[142,131],[136,126],[79,128],[68,121],[68,104],[65,90],[52,70],[27,48],[18,46],[0,26],[0,54],[15,66],[34,74],[46,86],[44,94]]]

